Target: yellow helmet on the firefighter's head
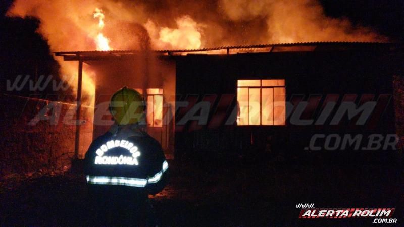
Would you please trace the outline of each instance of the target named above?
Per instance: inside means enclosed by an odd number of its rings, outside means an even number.
[[[118,125],[138,123],[143,118],[144,101],[134,89],[124,86],[111,97],[110,112]]]

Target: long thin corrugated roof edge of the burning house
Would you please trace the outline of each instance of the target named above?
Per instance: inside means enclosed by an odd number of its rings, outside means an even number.
[[[307,52],[307,51],[335,51],[335,50],[384,50],[402,49],[402,45],[380,42],[299,42],[264,45],[221,46],[201,49],[153,50],[154,53],[166,56],[184,56],[187,54],[238,54],[265,52]],[[116,59],[140,53],[139,50],[94,50],[94,51],[64,51],[55,52],[56,56],[63,56],[65,61],[97,61]]]

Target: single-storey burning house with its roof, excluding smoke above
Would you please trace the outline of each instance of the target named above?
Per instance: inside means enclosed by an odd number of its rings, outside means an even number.
[[[395,150],[398,142],[392,78],[402,73],[402,48],[396,44],[313,42],[56,56],[77,61],[80,77],[83,64],[96,74],[93,138],[112,124],[109,98],[126,85],[143,94],[147,132],[170,157],[320,152],[331,160],[347,154],[352,161],[372,153],[380,161],[389,155],[378,153]],[[76,147],[76,152],[85,151]]]

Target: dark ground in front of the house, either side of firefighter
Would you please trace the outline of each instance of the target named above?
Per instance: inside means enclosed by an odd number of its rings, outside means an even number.
[[[187,164],[184,164],[187,163]],[[261,164],[257,164],[261,163]],[[401,166],[301,165],[242,158],[170,161],[170,184],[151,198],[163,226],[352,226],[373,219],[298,219],[316,208],[396,208],[404,224]],[[89,225],[80,171],[9,176],[0,186],[0,225]]]

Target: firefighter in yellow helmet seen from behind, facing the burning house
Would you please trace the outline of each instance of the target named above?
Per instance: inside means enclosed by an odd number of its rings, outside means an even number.
[[[114,124],[92,142],[84,159],[93,218],[100,225],[138,225],[153,219],[148,194],[167,184],[168,163],[159,142],[144,132],[146,108],[139,92],[123,87],[109,108]]]

